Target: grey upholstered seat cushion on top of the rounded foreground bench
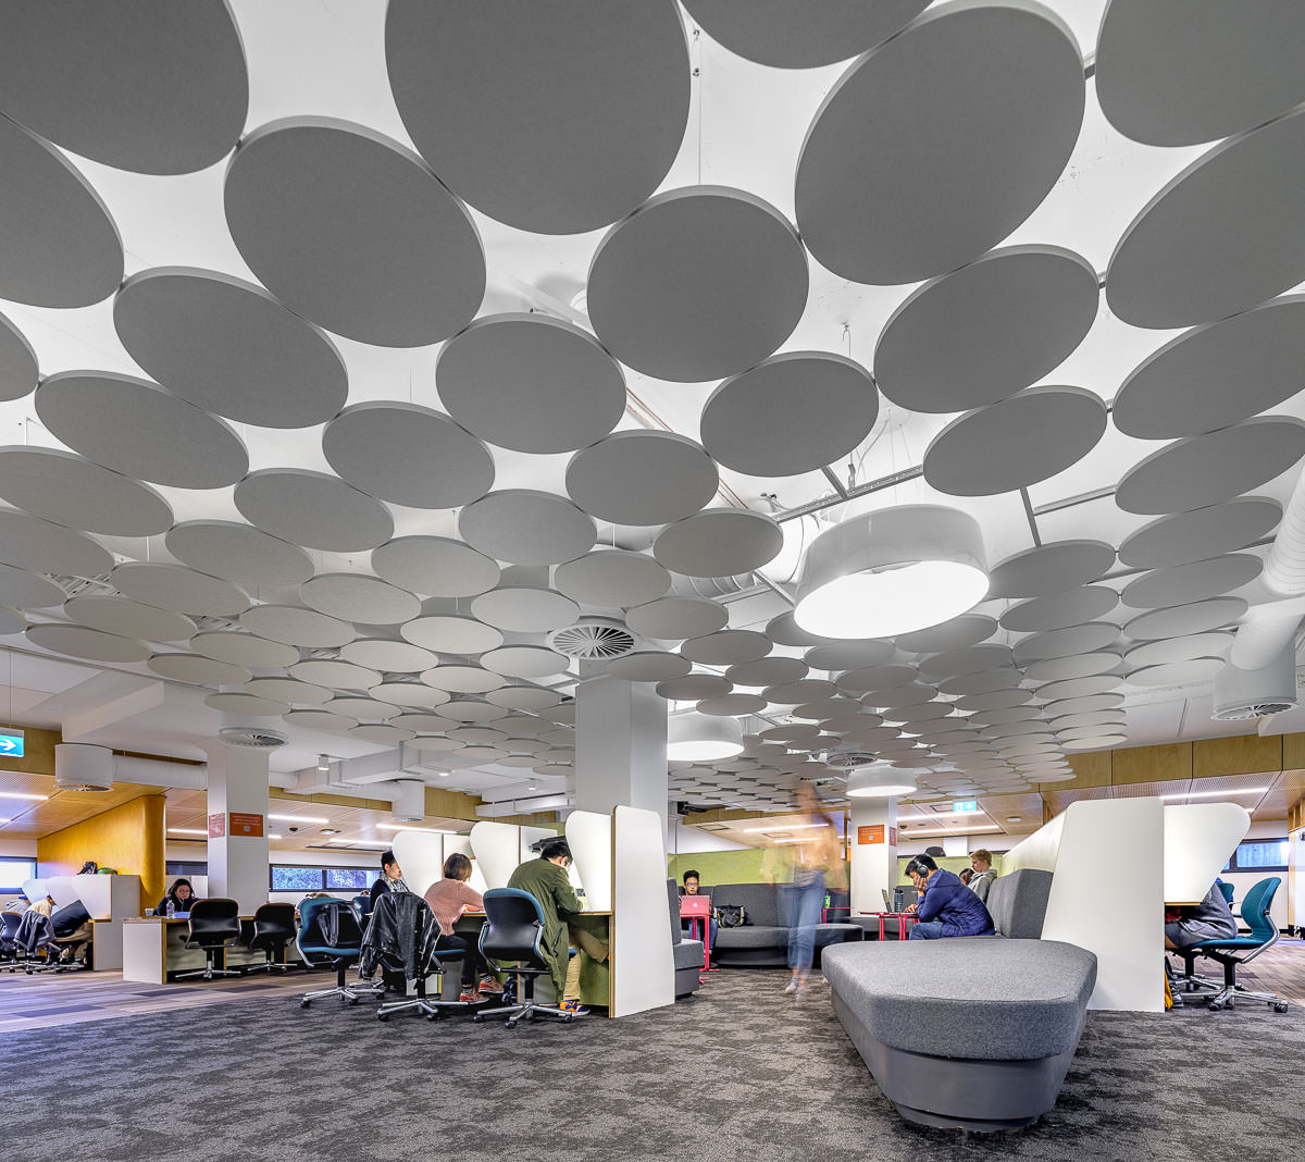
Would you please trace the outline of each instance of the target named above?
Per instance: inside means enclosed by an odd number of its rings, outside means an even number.
[[[876,941],[830,948],[823,971],[885,1046],[1036,1060],[1077,1044],[1096,957],[1056,940]]]

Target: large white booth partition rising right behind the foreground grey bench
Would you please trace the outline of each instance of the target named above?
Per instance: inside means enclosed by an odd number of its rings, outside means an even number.
[[[1088,1008],[1164,1007],[1164,807],[1155,798],[1095,799],[1069,808],[1002,858],[1002,873],[1052,872],[1044,940],[1096,954]]]

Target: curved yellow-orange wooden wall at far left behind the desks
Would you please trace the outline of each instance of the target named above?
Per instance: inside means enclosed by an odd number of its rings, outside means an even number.
[[[163,866],[162,793],[141,795],[91,819],[37,840],[37,873],[74,876],[87,859],[141,877],[142,903],[150,907],[167,890]]]

